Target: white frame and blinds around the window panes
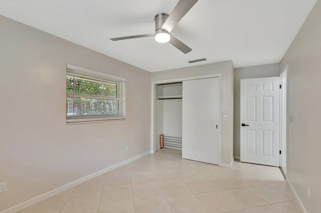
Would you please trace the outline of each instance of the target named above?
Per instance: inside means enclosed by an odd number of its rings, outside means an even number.
[[[124,120],[126,119],[126,78],[107,74],[104,72],[99,72],[71,64],[66,64],[66,77],[71,75],[71,70],[83,72],[84,76],[86,73],[88,75],[92,74],[96,77],[108,78],[110,81],[106,81],[105,79],[100,79],[102,82],[106,83],[115,83],[117,92],[116,97],[104,97],[104,96],[94,96],[94,95],[82,95],[82,94],[70,94],[67,93],[67,87],[65,87],[66,91],[66,123],[67,124],[76,124],[76,123],[87,123],[87,122],[100,122],[100,121],[111,121],[111,120]],[[88,80],[89,81],[89,80]],[[84,98],[94,98],[94,99],[105,99],[105,100],[118,100],[118,114],[103,114],[103,115],[72,115],[68,116],[68,97],[84,97]]]

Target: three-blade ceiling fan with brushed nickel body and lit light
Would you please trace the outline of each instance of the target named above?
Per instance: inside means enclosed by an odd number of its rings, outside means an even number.
[[[169,42],[185,54],[192,51],[192,49],[185,43],[174,37],[170,32],[176,24],[184,17],[184,15],[193,7],[198,0],[179,0],[171,14],[165,12],[157,13],[154,17],[155,32],[141,35],[131,35],[125,37],[110,38],[111,40],[124,40],[137,37],[155,36],[155,40],[160,43]]]

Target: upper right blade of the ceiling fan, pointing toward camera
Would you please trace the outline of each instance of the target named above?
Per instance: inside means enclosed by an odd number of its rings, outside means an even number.
[[[198,0],[180,0],[165,23],[162,29],[171,32],[176,24],[184,17],[184,15],[194,6]]]

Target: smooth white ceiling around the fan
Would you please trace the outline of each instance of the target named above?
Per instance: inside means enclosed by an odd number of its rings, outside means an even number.
[[[182,53],[153,37],[154,15],[178,0],[0,0],[0,14],[148,71],[223,60],[235,67],[279,62],[316,0],[199,0],[172,34]],[[208,60],[189,64],[188,60]]]

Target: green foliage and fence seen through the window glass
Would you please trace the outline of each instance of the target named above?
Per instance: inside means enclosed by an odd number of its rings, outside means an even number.
[[[122,100],[120,98],[120,82],[96,78],[73,75],[67,69],[67,118],[119,115],[120,101]]]

